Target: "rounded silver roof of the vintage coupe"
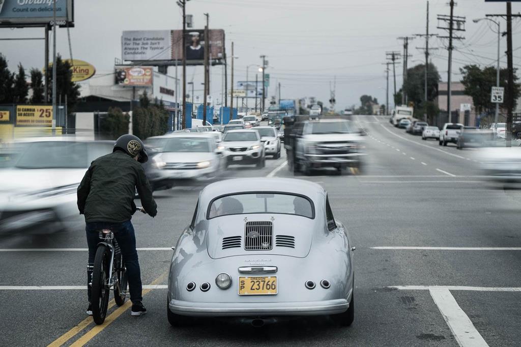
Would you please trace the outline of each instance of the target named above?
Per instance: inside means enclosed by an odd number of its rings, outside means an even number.
[[[320,185],[295,178],[254,177],[226,179],[207,185],[200,194],[200,205],[206,210],[210,201],[223,195],[240,194],[244,192],[270,191],[282,192],[308,197],[315,204],[317,214],[322,210],[326,190]]]

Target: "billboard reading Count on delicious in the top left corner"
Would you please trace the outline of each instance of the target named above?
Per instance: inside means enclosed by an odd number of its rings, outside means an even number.
[[[53,20],[53,0],[0,0],[0,26],[2,27],[44,25]],[[66,25],[73,21],[73,0],[56,0],[56,24]]]

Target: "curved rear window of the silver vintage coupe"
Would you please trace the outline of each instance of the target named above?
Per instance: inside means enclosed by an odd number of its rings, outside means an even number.
[[[207,219],[232,214],[280,213],[315,218],[313,202],[302,195],[251,192],[218,197],[209,204]]]

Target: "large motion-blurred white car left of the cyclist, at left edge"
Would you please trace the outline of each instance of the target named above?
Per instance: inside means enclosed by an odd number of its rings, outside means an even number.
[[[76,190],[91,161],[112,152],[112,141],[75,137],[24,140],[0,170],[0,234],[81,230]]]

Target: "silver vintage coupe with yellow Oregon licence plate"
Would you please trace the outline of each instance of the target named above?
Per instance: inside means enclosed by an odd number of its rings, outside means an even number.
[[[255,187],[255,188],[252,188]],[[354,318],[353,254],[327,192],[289,178],[230,179],[201,191],[170,264],[168,320]]]

